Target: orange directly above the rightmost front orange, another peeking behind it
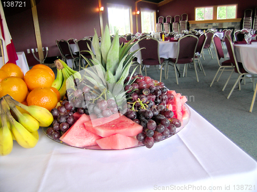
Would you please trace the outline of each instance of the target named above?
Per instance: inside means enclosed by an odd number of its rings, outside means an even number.
[[[28,89],[31,91],[35,88],[50,88],[52,87],[52,76],[46,69],[36,68],[29,70],[24,75]]]

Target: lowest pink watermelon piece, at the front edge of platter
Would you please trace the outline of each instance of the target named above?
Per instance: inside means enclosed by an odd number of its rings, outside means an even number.
[[[98,139],[96,142],[103,150],[123,150],[124,148],[131,148],[138,144],[137,139],[121,134],[104,137]]]

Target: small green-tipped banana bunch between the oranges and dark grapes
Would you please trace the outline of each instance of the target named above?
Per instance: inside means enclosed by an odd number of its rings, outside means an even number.
[[[56,79],[52,83],[52,87],[59,90],[61,100],[63,99],[66,89],[74,84],[73,79],[81,79],[81,74],[77,71],[72,70],[63,60],[57,59],[54,61],[57,68]],[[70,83],[70,84],[67,84]]]

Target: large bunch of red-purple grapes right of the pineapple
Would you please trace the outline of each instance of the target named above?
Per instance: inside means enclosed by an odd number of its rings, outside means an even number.
[[[173,117],[174,113],[167,108],[174,95],[167,92],[163,82],[148,76],[135,73],[125,81],[130,79],[134,79],[134,82],[125,87],[129,93],[125,115],[143,126],[143,132],[137,135],[137,139],[151,148],[155,142],[174,135],[176,128],[181,126],[180,120]],[[136,91],[130,93],[131,90]]]

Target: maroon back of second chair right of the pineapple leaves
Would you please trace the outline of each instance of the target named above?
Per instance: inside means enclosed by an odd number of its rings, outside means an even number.
[[[178,59],[182,58],[194,59],[197,43],[198,38],[194,35],[185,35],[178,39],[178,53],[176,63]]]

